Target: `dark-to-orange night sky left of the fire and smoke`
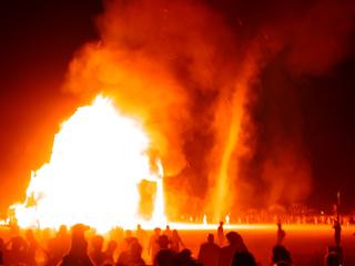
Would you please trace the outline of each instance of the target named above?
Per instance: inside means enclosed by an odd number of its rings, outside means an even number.
[[[2,208],[24,201],[32,170],[49,162],[59,124],[80,106],[61,85],[73,52],[98,39],[101,1],[1,1]]]

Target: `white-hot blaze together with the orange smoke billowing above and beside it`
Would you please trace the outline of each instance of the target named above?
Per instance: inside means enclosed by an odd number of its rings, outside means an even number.
[[[155,157],[171,221],[206,214],[206,226],[233,209],[304,202],[313,167],[304,78],[296,78],[326,73],[347,55],[354,4],[311,1],[254,17],[254,6],[243,6],[224,18],[203,1],[103,1],[100,39],[75,51],[62,89],[80,99],[111,95],[142,122],[100,98],[80,109],[55,136],[50,164],[33,173],[27,203],[16,206],[20,226],[134,226],[143,180],[156,183],[146,205],[152,226],[161,225]]]

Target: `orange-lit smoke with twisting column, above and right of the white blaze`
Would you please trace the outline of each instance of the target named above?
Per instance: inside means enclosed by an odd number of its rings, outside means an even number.
[[[346,55],[354,6],[267,4],[104,1],[101,40],[74,54],[64,89],[103,92],[144,120],[151,152],[172,176],[173,212],[204,209],[217,222],[311,191],[294,83]]]

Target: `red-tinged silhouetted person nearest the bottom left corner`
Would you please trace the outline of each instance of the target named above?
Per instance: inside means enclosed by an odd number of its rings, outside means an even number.
[[[8,246],[11,246],[8,249]],[[12,237],[10,242],[4,245],[3,249],[3,265],[13,266],[13,265],[27,265],[36,266],[37,262],[33,254],[30,252],[30,248],[21,236]]]

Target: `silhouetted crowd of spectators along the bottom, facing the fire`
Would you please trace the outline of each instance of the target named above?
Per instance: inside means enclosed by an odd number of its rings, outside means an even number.
[[[179,232],[171,231],[170,226],[166,226],[163,234],[162,229],[156,227],[149,238],[148,233],[138,225],[134,234],[132,231],[116,227],[109,236],[103,236],[83,224],[72,226],[69,233],[68,227],[62,225],[54,237],[41,242],[37,238],[36,232],[28,229],[24,237],[20,234],[13,235],[7,243],[0,238],[0,265],[262,266],[255,260],[237,232],[231,231],[224,235],[222,222],[216,228],[222,245],[217,245],[214,242],[214,234],[210,233],[206,242],[200,245],[197,257],[194,257],[183,244]],[[281,223],[277,223],[276,243],[271,250],[270,265],[263,266],[296,265],[291,252],[282,244],[285,235]],[[142,257],[144,247],[150,257],[148,262]],[[339,266],[341,263],[342,257],[334,252],[326,254],[324,258],[324,266]]]

